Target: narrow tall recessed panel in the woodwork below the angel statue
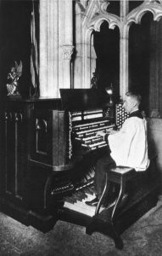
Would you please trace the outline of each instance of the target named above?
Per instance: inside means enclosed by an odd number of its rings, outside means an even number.
[[[23,122],[22,113],[5,112],[5,191],[21,198],[20,171],[20,137]]]

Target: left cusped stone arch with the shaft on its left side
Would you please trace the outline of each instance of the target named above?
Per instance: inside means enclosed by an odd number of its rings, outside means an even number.
[[[115,26],[120,26],[120,17],[109,14],[106,11],[108,5],[109,3],[105,0],[90,1],[87,9],[85,9],[84,18],[82,20],[83,84],[87,84],[87,87],[88,84],[90,84],[92,72],[95,69],[94,63],[91,63],[91,57],[88,58],[89,55],[91,56],[93,47],[92,32],[99,32],[104,21],[109,23],[109,29],[114,29]],[[88,67],[90,67],[90,69]]]

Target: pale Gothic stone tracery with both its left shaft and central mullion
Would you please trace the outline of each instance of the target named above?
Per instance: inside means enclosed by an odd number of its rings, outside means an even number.
[[[84,4],[83,4],[84,3]],[[82,21],[81,21],[81,48],[82,48],[82,83],[83,87],[90,86],[92,72],[95,69],[95,53],[92,52],[92,32],[100,31],[103,21],[109,23],[109,29],[115,26],[120,30],[120,96],[125,97],[128,90],[128,44],[129,28],[132,23],[140,24],[142,16],[148,12],[153,14],[154,20],[159,21],[162,17],[162,1],[145,0],[136,9],[132,9],[126,15],[118,16],[107,11],[109,3],[106,0],[89,0],[79,2]],[[120,5],[122,5],[122,1]]]

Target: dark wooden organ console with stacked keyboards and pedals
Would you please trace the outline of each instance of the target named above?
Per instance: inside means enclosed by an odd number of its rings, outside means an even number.
[[[85,201],[94,196],[94,166],[109,154],[96,133],[119,129],[127,118],[121,103],[109,104],[105,91],[63,89],[60,95],[61,100],[8,97],[0,112],[1,211],[43,232],[59,219],[91,222],[95,208]],[[140,194],[136,201],[143,204],[142,214],[146,204],[155,204],[154,184],[146,184],[147,196]]]

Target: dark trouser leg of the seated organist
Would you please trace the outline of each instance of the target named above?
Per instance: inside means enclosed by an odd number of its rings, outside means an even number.
[[[113,160],[110,155],[99,159],[95,166],[94,189],[95,193],[98,195],[98,199],[103,193],[105,173],[109,172],[109,169],[114,166],[116,166],[115,160]]]

